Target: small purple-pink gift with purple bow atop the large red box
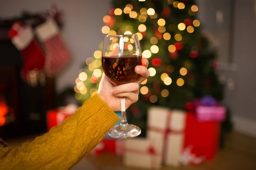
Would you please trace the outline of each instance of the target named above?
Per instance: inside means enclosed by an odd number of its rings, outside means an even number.
[[[226,118],[226,108],[212,96],[205,96],[194,102],[198,122],[223,122]]]

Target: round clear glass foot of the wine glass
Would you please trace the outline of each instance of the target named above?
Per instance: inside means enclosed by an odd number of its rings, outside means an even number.
[[[140,135],[140,127],[135,125],[121,126],[116,125],[111,127],[108,131],[108,135],[116,139],[129,139]]]

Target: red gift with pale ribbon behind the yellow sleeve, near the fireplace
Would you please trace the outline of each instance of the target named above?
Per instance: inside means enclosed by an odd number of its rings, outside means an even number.
[[[47,130],[49,131],[52,127],[61,125],[61,123],[63,123],[67,117],[73,115],[77,109],[77,105],[67,105],[47,111]]]

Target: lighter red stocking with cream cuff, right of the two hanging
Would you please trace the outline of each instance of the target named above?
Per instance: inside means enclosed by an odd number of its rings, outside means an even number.
[[[49,76],[55,76],[69,62],[70,53],[64,44],[57,24],[48,20],[36,28],[38,39],[46,48],[45,70]]]

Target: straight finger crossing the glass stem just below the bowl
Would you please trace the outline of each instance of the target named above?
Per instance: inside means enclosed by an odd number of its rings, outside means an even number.
[[[119,85],[119,86],[113,87],[111,89],[111,92],[113,94],[138,92],[139,88],[140,88],[140,86],[137,83],[132,82],[132,83],[128,83],[128,84],[124,84],[124,85]]]

